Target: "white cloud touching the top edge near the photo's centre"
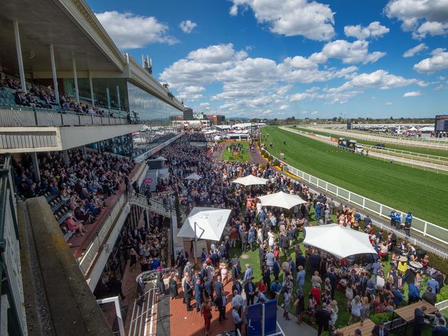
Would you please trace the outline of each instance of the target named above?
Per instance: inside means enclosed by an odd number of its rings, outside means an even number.
[[[267,23],[271,32],[328,41],[334,36],[334,12],[329,5],[308,0],[232,0],[230,14],[251,8],[258,23]]]

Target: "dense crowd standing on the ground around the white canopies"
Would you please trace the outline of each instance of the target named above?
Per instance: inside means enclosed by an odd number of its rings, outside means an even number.
[[[289,319],[293,307],[299,324],[303,315],[307,315],[309,323],[318,325],[319,335],[322,330],[336,335],[340,309],[350,312],[349,324],[368,319],[370,313],[394,311],[405,302],[405,287],[408,303],[418,300],[425,300],[428,305],[436,303],[436,294],[444,286],[445,277],[431,268],[424,251],[398,242],[394,232],[374,230],[369,216],[362,219],[355,209],[336,204],[323,194],[311,193],[305,185],[274,171],[269,164],[216,160],[206,155],[207,148],[189,145],[190,139],[184,137],[181,143],[164,149],[162,155],[170,162],[170,178],[159,182],[159,190],[177,193],[181,204],[190,209],[232,209],[222,240],[212,242],[210,249],[203,249],[200,270],[195,270],[188,262],[186,251],[176,256],[177,280],[181,280],[183,300],[190,311],[194,299],[196,311],[204,316],[206,332],[210,330],[212,306],[219,311],[219,321],[225,319],[227,297],[223,287],[229,281],[233,284],[233,297],[229,302],[233,308],[232,317],[240,330],[247,306],[264,302],[267,297],[283,302],[285,319]],[[192,173],[201,179],[185,180]],[[231,183],[248,174],[268,178],[269,183],[251,188]],[[257,196],[276,191],[297,194],[307,202],[288,211],[262,207]],[[377,254],[338,260],[312,246],[301,248],[297,238],[303,227],[311,221],[327,224],[332,222],[332,216],[341,226],[369,234]],[[410,223],[411,218],[408,221]],[[243,252],[258,247],[258,264],[242,267],[237,255],[230,253],[236,246],[241,246]],[[290,255],[292,251],[294,259]],[[281,263],[281,256],[287,261]],[[252,279],[254,266],[260,267],[262,273],[257,283]],[[429,280],[422,281],[424,277]],[[308,293],[305,293],[305,281],[311,282]],[[345,296],[345,302],[336,300],[336,291]],[[177,297],[174,273],[170,278],[170,292],[172,298]],[[420,316],[420,312],[417,311],[417,315]],[[425,315],[422,312],[422,316],[434,319],[436,328],[446,328],[440,313]],[[414,335],[420,335],[427,321],[425,319],[424,324],[419,324],[418,318],[416,321]],[[384,330],[384,326],[378,325],[378,330]]]

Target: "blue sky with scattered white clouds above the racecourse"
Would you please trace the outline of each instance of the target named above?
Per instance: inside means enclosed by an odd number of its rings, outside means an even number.
[[[123,52],[195,112],[448,112],[448,0],[88,1]]]

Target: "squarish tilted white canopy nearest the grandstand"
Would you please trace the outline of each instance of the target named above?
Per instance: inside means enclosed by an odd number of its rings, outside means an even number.
[[[193,208],[177,236],[205,240],[221,240],[221,235],[223,234],[225,224],[231,212],[229,209]],[[194,234],[195,224],[196,235]]]

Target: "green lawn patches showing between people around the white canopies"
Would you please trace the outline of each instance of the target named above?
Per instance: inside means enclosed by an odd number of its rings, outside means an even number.
[[[270,133],[269,133],[269,137],[270,137]],[[311,210],[311,218],[314,218],[314,209]],[[332,220],[336,221],[336,216],[332,216]],[[310,221],[310,224],[316,224],[316,221]],[[303,233],[300,233],[299,237],[298,237],[298,243],[300,244],[301,242],[303,242]],[[293,260],[295,260],[296,258],[296,254],[294,252],[296,247],[296,244],[292,245],[289,249],[289,252],[291,253],[290,255],[292,256]],[[301,250],[303,251],[303,253],[305,252],[305,247],[303,246],[303,244],[301,244]],[[234,249],[230,249],[230,255],[241,255],[241,246],[237,246]],[[254,283],[258,284],[258,282],[261,280],[261,269],[260,269],[260,259],[258,256],[258,248],[256,248],[253,252],[252,251],[247,251],[244,253],[245,254],[245,259],[240,258],[241,261],[241,266],[243,268],[243,271],[245,271],[245,264],[251,264],[252,269],[254,269]],[[390,258],[390,255],[389,255]],[[281,253],[280,255],[280,264],[282,264],[282,262],[287,261],[287,257],[283,255],[283,253]],[[389,272],[390,269],[390,264],[388,261],[384,261],[383,263],[383,269],[385,271],[385,273],[387,274]],[[293,302],[296,300],[296,290],[297,290],[297,286],[296,286],[296,272],[294,273],[294,290],[293,290]],[[271,280],[274,280],[274,276],[271,276]],[[280,275],[280,282],[282,282],[282,273]],[[421,294],[423,294],[423,289],[425,288],[425,282],[426,279],[423,280],[422,282],[422,291]],[[307,308],[307,297],[309,294],[309,291],[311,290],[311,274],[309,273],[309,271],[307,270],[306,276],[305,276],[305,287],[304,287],[304,294],[305,294],[305,308]],[[402,304],[403,307],[407,304],[407,285],[405,285],[405,302]],[[438,295],[438,302],[442,301],[445,299],[445,297],[448,295],[448,286],[444,286],[442,288],[442,291],[440,293],[440,295]],[[269,294],[267,294],[267,297],[269,298]],[[345,326],[347,326],[347,323],[349,321],[350,318],[350,313],[348,311],[345,311],[345,306],[347,304],[347,299],[345,298],[345,293],[343,293],[342,291],[335,291],[335,297],[334,299],[338,302],[338,308],[339,308],[339,313],[338,313],[338,320],[336,322],[336,328],[343,328]],[[283,302],[283,293],[280,295],[279,299],[278,299],[278,305],[281,305],[281,303]],[[295,313],[295,307],[294,305],[291,305],[291,313]],[[371,315],[374,315],[373,310],[371,310]],[[303,315],[305,321],[307,321],[307,315]],[[316,324],[312,325],[314,328],[316,327]],[[408,327],[407,330],[407,335],[411,335],[411,327]],[[400,329],[400,330],[396,330],[394,331],[393,335],[403,335],[404,334],[404,330]],[[423,336],[426,335],[431,335],[431,328],[425,328],[424,333],[422,333]]]

